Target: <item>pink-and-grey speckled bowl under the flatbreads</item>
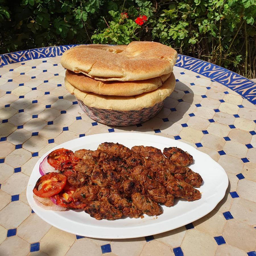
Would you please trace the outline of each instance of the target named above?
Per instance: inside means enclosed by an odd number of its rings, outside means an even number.
[[[88,117],[96,122],[114,126],[130,126],[143,123],[154,117],[164,106],[164,102],[161,101],[152,107],[143,108],[141,110],[117,111],[92,108],[84,105],[80,100],[77,101]]]

